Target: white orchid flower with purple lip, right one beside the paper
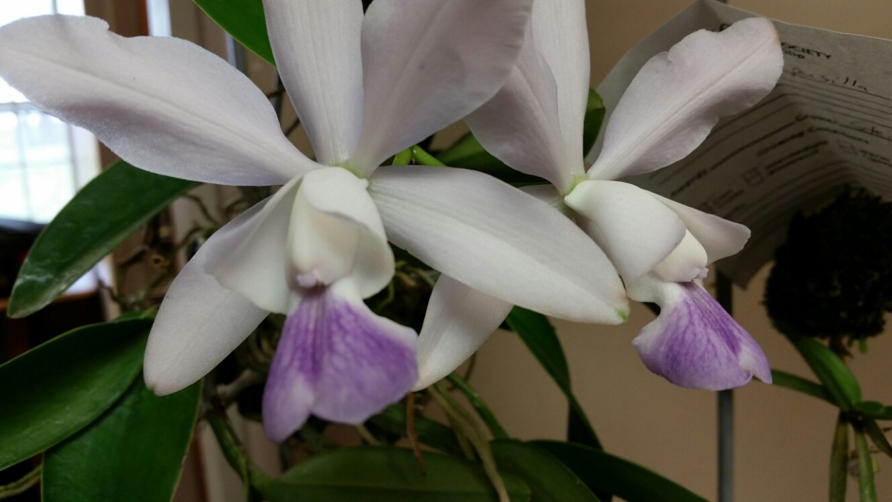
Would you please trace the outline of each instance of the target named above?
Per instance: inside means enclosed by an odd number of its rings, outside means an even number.
[[[532,26],[505,87],[467,117],[475,137],[517,171],[549,180],[553,186],[531,193],[568,214],[599,244],[630,298],[660,306],[657,320],[633,341],[650,371],[699,389],[739,387],[754,375],[771,381],[756,341],[699,282],[707,264],[744,246],[749,230],[616,179],[680,160],[721,116],[762,99],[783,66],[772,23],[749,19],[722,33],[701,30],[657,54],[616,106],[600,156],[587,171],[582,152],[589,93],[584,3],[536,0]],[[500,305],[495,298],[489,302]],[[468,316],[499,315],[474,305],[465,309]],[[461,308],[450,309],[449,316],[456,315],[462,315]],[[419,354],[431,356],[421,361],[419,371],[435,379],[460,361],[448,360],[453,352],[440,350],[450,339],[425,334],[423,329]],[[475,348],[487,335],[466,334],[465,346]]]

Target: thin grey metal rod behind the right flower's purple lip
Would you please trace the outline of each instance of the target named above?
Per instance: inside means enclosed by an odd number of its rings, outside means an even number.
[[[719,273],[715,278],[715,297],[728,314],[731,314],[733,293],[731,279]],[[732,502],[734,499],[734,391],[718,392],[719,430],[719,498],[718,502]]]

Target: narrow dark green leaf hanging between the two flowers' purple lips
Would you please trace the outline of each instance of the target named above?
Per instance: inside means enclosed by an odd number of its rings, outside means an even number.
[[[526,347],[536,356],[569,401],[570,423],[579,424],[578,434],[574,434],[579,437],[572,438],[574,442],[601,448],[598,434],[570,387],[570,370],[567,368],[564,349],[561,348],[558,335],[549,320],[542,314],[516,306],[511,309],[505,322],[524,340]]]

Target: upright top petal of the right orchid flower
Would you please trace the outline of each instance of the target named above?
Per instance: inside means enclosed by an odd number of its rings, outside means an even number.
[[[558,85],[558,116],[566,155],[582,159],[582,123],[589,102],[589,32],[584,0],[536,0],[533,37]],[[575,166],[574,166],[575,167]]]

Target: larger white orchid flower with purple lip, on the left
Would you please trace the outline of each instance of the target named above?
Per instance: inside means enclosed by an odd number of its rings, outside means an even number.
[[[284,185],[216,232],[171,285],[145,351],[150,388],[168,394],[198,380],[274,312],[287,317],[263,397],[270,439],[310,414],[359,423],[398,400],[417,381],[417,335],[362,301],[392,278],[388,239],[502,301],[578,321],[624,319],[607,256],[548,205],[477,172],[379,167],[494,96],[531,0],[378,0],[365,14],[359,0],[264,8],[315,162],[285,138],[249,79],[198,46],[121,38],[92,18],[0,29],[0,77],[129,163],[188,180]]]

